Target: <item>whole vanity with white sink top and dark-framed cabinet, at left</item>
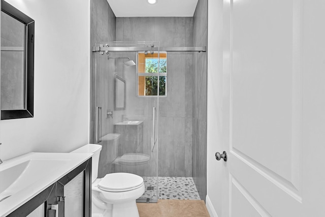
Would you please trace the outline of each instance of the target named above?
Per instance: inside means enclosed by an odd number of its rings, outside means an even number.
[[[29,152],[0,165],[0,216],[91,216],[91,154]]]

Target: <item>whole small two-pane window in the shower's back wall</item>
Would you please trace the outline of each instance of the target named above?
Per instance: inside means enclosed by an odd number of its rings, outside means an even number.
[[[167,96],[167,53],[138,53],[138,96]]]

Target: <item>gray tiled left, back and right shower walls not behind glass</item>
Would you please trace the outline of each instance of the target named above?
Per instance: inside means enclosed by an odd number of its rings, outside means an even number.
[[[106,0],[91,0],[90,28],[91,46],[101,41],[160,41],[160,46],[206,46],[207,0],[199,0],[193,18],[116,18]],[[132,58],[135,59],[135,55]],[[90,76],[90,142],[93,142],[95,91],[92,59],[90,67],[92,72]],[[159,99],[158,175],[193,176],[201,198],[205,199],[207,180],[206,53],[169,53],[168,73],[168,97]],[[111,126],[113,121],[107,122],[106,125],[107,129],[113,128]],[[104,154],[105,150],[103,149],[102,152]],[[105,168],[105,165],[105,162],[100,162],[99,177],[109,170]]]

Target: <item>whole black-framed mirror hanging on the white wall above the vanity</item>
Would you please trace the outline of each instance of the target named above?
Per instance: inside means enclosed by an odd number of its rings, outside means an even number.
[[[34,116],[35,21],[1,0],[1,119]]]

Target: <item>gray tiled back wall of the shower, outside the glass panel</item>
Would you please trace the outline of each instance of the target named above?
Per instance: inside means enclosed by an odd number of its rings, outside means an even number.
[[[193,18],[116,18],[116,41],[192,46]],[[192,176],[192,61],[191,53],[168,53],[167,98],[159,98],[159,176]],[[148,143],[146,138],[144,143]]]

